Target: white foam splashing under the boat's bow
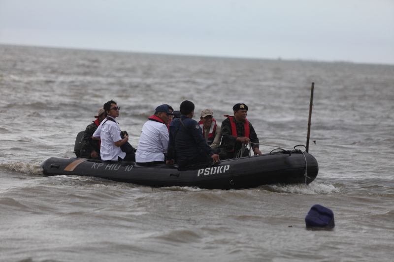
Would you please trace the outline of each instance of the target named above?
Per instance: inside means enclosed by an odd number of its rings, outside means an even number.
[[[287,194],[300,194],[300,195],[319,195],[319,194],[332,194],[341,192],[340,188],[332,184],[312,183],[309,185],[294,184],[294,185],[268,185],[267,190],[287,193]]]

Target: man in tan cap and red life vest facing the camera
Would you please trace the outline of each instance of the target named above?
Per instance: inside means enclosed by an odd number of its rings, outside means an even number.
[[[222,128],[216,123],[215,118],[213,118],[212,110],[204,109],[201,111],[198,125],[202,129],[202,135],[206,142],[212,148],[212,151],[217,154],[216,149],[220,146],[220,141],[222,140]]]

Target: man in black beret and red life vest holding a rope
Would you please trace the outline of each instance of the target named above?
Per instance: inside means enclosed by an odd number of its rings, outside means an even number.
[[[220,145],[220,159],[229,159],[236,157],[242,146],[252,144],[255,155],[260,155],[259,138],[256,135],[252,124],[246,119],[248,106],[245,104],[236,104],[232,107],[234,116],[227,116],[222,122],[222,143]],[[248,156],[249,150],[245,148],[242,156]]]

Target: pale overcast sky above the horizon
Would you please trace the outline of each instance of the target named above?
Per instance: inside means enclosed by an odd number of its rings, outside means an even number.
[[[0,0],[0,44],[394,64],[394,0]]]

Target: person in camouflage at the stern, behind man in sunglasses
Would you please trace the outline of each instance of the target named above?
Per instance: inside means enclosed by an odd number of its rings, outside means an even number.
[[[93,140],[92,136],[99,127],[102,120],[105,119],[105,111],[100,108],[97,112],[97,118],[93,123],[89,124],[81,139],[81,157],[99,158],[100,157],[100,143],[98,140]]]

